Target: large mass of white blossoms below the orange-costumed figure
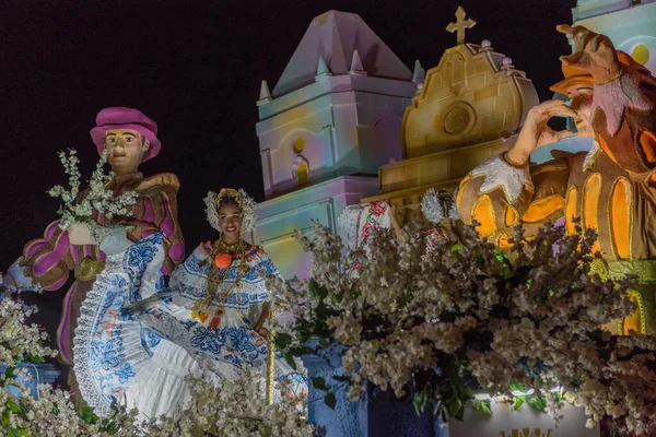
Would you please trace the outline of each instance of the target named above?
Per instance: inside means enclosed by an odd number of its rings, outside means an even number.
[[[522,385],[558,420],[562,397],[550,389],[562,387],[590,425],[606,415],[621,432],[656,433],[656,339],[601,328],[634,310],[624,291],[636,284],[589,273],[594,235],[555,227],[527,243],[518,231],[504,253],[467,228],[426,253],[419,224],[407,232],[415,238],[395,244],[376,229],[367,253],[342,257],[339,237],[317,225],[301,237],[311,279],[273,284],[296,317],[278,332],[344,346],[353,399],[368,381],[461,417],[473,391],[512,398]]]

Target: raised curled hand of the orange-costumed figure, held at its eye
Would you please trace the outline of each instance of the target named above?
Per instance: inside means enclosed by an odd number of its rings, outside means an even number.
[[[560,99],[547,101],[534,106],[526,116],[515,145],[506,152],[506,160],[516,166],[528,165],[530,154],[536,149],[573,135],[572,131],[555,131],[547,125],[555,116],[576,117],[576,113]]]

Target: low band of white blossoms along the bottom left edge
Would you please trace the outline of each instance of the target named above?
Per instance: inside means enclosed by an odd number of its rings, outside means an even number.
[[[21,394],[15,397],[9,386]],[[17,433],[13,435],[54,437],[311,436],[313,427],[298,409],[298,402],[305,404],[306,399],[282,397],[279,403],[266,405],[265,386],[261,375],[254,371],[237,380],[191,378],[188,406],[177,414],[140,422],[136,410],[126,411],[120,405],[108,418],[98,418],[90,409],[81,415],[68,391],[40,385],[35,400],[23,385],[0,376],[0,415],[7,417],[0,424],[0,435],[5,429]],[[289,387],[281,382],[279,389]]]

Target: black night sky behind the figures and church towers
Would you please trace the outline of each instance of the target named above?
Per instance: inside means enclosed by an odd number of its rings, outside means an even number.
[[[312,19],[353,12],[410,68],[427,70],[456,37],[445,31],[460,4],[477,21],[467,42],[490,39],[532,79],[540,99],[560,80],[570,47],[554,26],[575,0],[438,1],[25,1],[0,16],[0,270],[57,218],[46,194],[66,182],[57,151],[79,151],[83,176],[97,161],[89,130],[97,111],[131,106],[154,119],[162,152],[145,176],[175,173],[187,252],[214,238],[202,198],[241,187],[263,200],[255,102],[272,90]],[[57,292],[63,297],[65,290]],[[47,299],[51,308],[52,297]]]

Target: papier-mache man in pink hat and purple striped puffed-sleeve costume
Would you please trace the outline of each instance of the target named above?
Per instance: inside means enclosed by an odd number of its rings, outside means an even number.
[[[157,125],[140,110],[125,107],[101,110],[96,117],[96,127],[91,130],[91,138],[98,154],[107,150],[107,161],[115,174],[109,188],[116,194],[128,190],[138,193],[138,202],[131,206],[131,215],[105,220],[96,214],[97,223],[108,229],[102,241],[95,241],[83,223],[73,223],[62,231],[58,221],[52,222],[43,238],[25,246],[23,255],[3,279],[4,285],[10,290],[21,292],[43,288],[50,292],[62,287],[69,275],[74,274],[75,281],[66,294],[57,332],[61,361],[69,366],[77,361],[73,356],[73,338],[79,319],[83,319],[80,318],[81,308],[94,290],[96,276],[104,272],[106,258],[125,253],[128,248],[157,234],[161,235],[163,251],[161,268],[157,267],[161,270],[159,280],[168,275],[184,259],[183,234],[177,221],[177,177],[173,174],[160,174],[145,178],[139,173],[139,165],[160,152],[162,144],[156,133]],[[80,199],[84,196],[85,192],[82,192]],[[133,287],[139,285],[141,277],[136,281],[137,285]],[[156,335],[142,333],[142,336],[141,342],[147,350],[149,345],[152,349],[160,342]],[[106,346],[104,354],[120,358],[119,349]],[[115,359],[114,363],[107,359],[104,363],[105,367],[121,365],[120,359]],[[120,375],[121,380],[130,378],[125,364]],[[78,381],[72,371],[70,381],[71,392],[77,392]]]

